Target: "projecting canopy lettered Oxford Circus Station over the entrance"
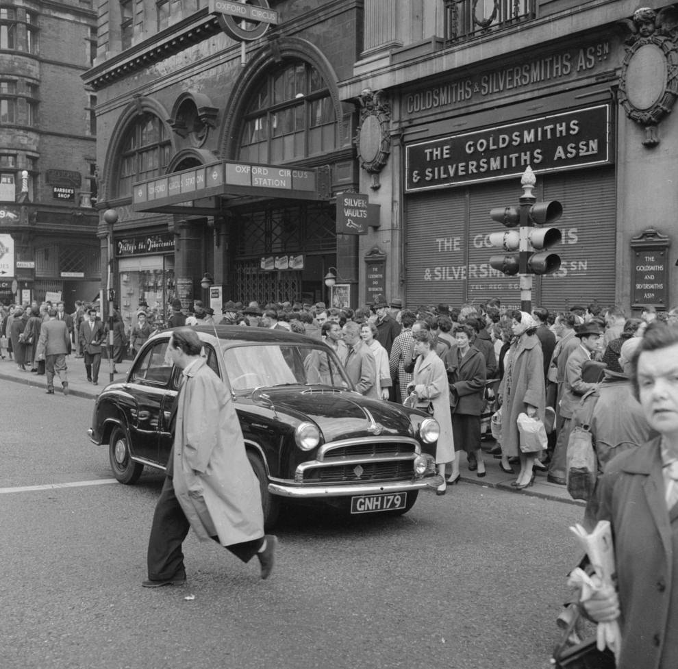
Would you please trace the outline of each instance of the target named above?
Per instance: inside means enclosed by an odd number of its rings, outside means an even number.
[[[214,216],[242,198],[329,200],[329,167],[301,168],[221,160],[132,186],[132,210]]]

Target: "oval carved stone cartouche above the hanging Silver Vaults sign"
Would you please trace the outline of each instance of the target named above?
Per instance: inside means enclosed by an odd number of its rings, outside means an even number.
[[[383,91],[366,88],[360,93],[360,125],[355,136],[360,166],[372,175],[372,190],[378,190],[379,172],[388,162],[391,152],[388,126],[391,108],[382,97]]]

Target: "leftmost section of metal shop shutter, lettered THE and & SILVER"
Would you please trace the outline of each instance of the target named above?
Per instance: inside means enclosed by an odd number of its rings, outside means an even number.
[[[407,307],[465,301],[467,208],[465,188],[407,198]]]

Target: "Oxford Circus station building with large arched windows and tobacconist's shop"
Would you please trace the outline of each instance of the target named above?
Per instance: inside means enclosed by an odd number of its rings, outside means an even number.
[[[127,327],[139,305],[162,314],[175,297],[217,311],[327,300],[330,269],[357,290],[357,240],[338,240],[334,194],[358,184],[357,114],[338,84],[362,48],[361,3],[270,4],[275,25],[235,21],[230,34],[195,0],[99,7],[84,80],[98,99],[99,205],[114,212],[101,212],[102,260],[112,253]],[[207,196],[192,192],[217,173]]]

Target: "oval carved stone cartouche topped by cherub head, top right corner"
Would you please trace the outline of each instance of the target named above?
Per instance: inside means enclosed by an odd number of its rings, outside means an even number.
[[[631,35],[619,79],[619,101],[627,116],[645,129],[643,144],[659,144],[657,124],[678,97],[678,8],[659,12],[642,7],[622,22]]]

